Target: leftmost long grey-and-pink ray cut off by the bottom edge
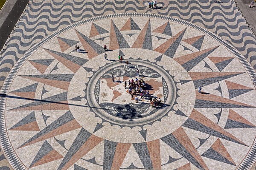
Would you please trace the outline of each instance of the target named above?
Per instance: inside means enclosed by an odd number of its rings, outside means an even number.
[[[102,140],[82,127],[57,170],[67,170]]]

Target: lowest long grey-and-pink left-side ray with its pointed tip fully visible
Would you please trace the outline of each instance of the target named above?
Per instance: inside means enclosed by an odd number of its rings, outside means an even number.
[[[67,111],[67,113],[65,113],[58,119],[56,119],[54,122],[52,122],[50,125],[48,125],[43,130],[38,132],[35,136],[30,138],[28,141],[21,144],[20,147],[18,148],[25,147],[29,144],[34,144],[36,142],[40,142],[45,139],[49,139],[53,136],[58,136],[62,133],[66,133],[71,130],[78,129],[80,127],[81,125],[79,125],[79,123],[76,122],[72,113],[70,111]]]

